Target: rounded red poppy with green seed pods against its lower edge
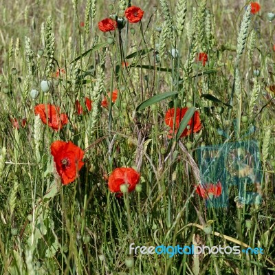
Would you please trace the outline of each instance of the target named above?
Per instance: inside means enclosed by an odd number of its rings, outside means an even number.
[[[115,168],[111,173],[108,181],[109,190],[111,192],[118,192],[121,196],[120,186],[128,184],[128,192],[135,190],[135,186],[140,181],[140,174],[133,168]]]

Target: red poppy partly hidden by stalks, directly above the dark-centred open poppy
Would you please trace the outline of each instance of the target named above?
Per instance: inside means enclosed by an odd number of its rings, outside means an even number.
[[[63,125],[68,123],[67,115],[65,113],[60,114],[60,108],[51,104],[36,105],[34,113],[40,115],[42,122],[48,124],[55,131],[62,129]]]

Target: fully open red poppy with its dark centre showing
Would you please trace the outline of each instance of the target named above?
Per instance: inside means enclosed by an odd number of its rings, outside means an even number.
[[[62,184],[71,183],[78,177],[78,171],[84,165],[84,151],[72,142],[57,140],[51,145],[56,171],[61,176]]]

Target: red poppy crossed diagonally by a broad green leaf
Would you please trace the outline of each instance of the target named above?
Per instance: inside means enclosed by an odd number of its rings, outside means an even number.
[[[186,114],[186,111],[188,108],[177,108],[176,110],[176,118],[175,118],[175,132],[177,133],[177,129],[179,129],[179,124],[181,120],[184,118],[184,115]],[[169,133],[173,134],[173,121],[174,121],[174,115],[175,115],[175,108],[168,109],[166,115],[165,115],[165,124],[170,127]],[[201,120],[199,118],[199,112],[195,111],[193,117],[189,120],[186,129],[181,133],[180,137],[185,137],[186,135],[190,135],[190,133],[197,133],[201,130]],[[169,136],[168,136],[169,137]]]

